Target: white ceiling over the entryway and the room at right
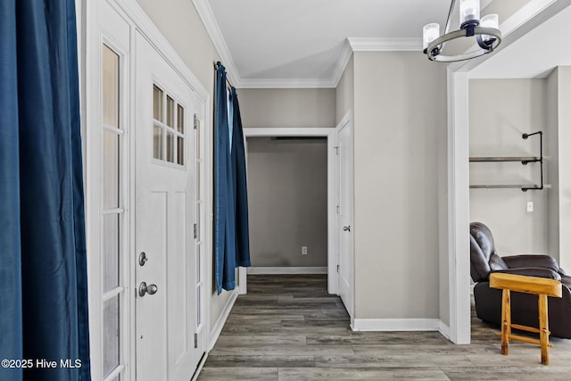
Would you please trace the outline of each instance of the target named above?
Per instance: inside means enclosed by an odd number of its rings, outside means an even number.
[[[335,87],[352,51],[407,50],[421,54],[422,27],[439,22],[443,30],[451,5],[451,0],[193,1],[236,87]],[[481,0],[483,10],[489,5],[492,12],[504,12],[509,18],[501,24],[504,37],[532,17],[529,12],[540,12],[554,3],[568,5],[569,1]],[[500,7],[503,9],[496,9]],[[526,12],[520,12],[525,8]],[[559,37],[554,31],[564,29],[563,16],[553,19],[543,35],[533,37],[540,42],[538,47],[545,48],[541,44],[545,33]],[[569,30],[561,33],[566,46]],[[497,65],[512,76],[517,72],[521,78],[546,70],[542,60],[535,60],[534,68],[517,65],[519,70],[510,71],[514,68],[511,55],[525,60],[528,54],[527,50],[515,53],[520,50],[510,45],[492,55],[503,57]],[[571,59],[571,52],[566,53]],[[559,58],[553,56],[553,60]],[[492,58],[483,62],[484,67],[475,76],[504,75],[501,70],[492,73],[493,62]]]

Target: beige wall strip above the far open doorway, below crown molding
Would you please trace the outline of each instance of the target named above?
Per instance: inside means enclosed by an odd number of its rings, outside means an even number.
[[[244,128],[335,127],[335,88],[242,88]]]

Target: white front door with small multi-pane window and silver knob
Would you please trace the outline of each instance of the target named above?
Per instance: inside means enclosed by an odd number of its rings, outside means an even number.
[[[145,37],[136,46],[137,381],[188,381],[204,352],[195,335],[197,101]]]

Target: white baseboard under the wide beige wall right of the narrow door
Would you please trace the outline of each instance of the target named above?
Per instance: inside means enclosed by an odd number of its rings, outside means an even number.
[[[441,319],[354,319],[351,327],[353,331],[441,331],[443,326]]]

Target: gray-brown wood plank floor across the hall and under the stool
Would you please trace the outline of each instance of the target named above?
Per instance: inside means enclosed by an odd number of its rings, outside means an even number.
[[[437,332],[352,332],[327,277],[248,276],[199,381],[571,380],[571,340],[552,337],[550,366],[539,346],[510,343],[472,318],[472,344]]]

